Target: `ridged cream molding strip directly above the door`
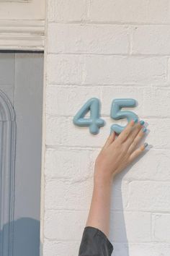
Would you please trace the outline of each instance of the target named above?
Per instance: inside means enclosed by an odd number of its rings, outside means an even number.
[[[0,50],[43,51],[44,20],[0,20]]]

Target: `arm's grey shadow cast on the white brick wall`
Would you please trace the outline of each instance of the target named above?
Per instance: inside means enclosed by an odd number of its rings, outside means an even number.
[[[152,146],[151,146],[152,148]],[[122,192],[121,192],[121,184],[122,184],[122,179],[123,176],[125,176],[126,173],[132,168],[135,163],[140,161],[140,158],[145,157],[144,155],[148,153],[148,150],[150,148],[146,149],[143,151],[143,153],[133,161],[133,163],[130,164],[127,168],[125,168],[124,171],[122,171],[120,174],[117,175],[114,183],[113,188],[116,187],[116,197],[119,200],[119,205],[118,208],[122,210],[115,211],[114,213],[111,213],[111,221],[110,221],[110,228],[112,230],[112,234],[110,236],[110,240],[113,243],[113,256],[130,256],[129,252],[129,245],[128,245],[128,236],[127,236],[127,231],[126,231],[126,226],[125,226],[125,217],[124,217],[124,212],[123,212],[123,201],[122,201]],[[112,202],[113,205],[116,202],[115,198],[115,193],[112,193]]]

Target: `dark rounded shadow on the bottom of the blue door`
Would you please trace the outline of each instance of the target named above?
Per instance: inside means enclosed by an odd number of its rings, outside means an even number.
[[[19,218],[14,225],[14,254],[12,256],[40,255],[40,221],[33,218]],[[9,223],[4,224],[0,231],[0,241],[9,229]],[[10,255],[11,256],[11,255]]]

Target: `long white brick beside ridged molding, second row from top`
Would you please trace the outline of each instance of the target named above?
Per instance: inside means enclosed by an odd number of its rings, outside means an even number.
[[[130,47],[126,25],[50,23],[48,37],[48,52],[55,54],[128,54]]]

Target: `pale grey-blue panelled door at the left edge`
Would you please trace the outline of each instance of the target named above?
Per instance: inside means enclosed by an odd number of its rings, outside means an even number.
[[[39,256],[42,53],[0,53],[0,255]]]

